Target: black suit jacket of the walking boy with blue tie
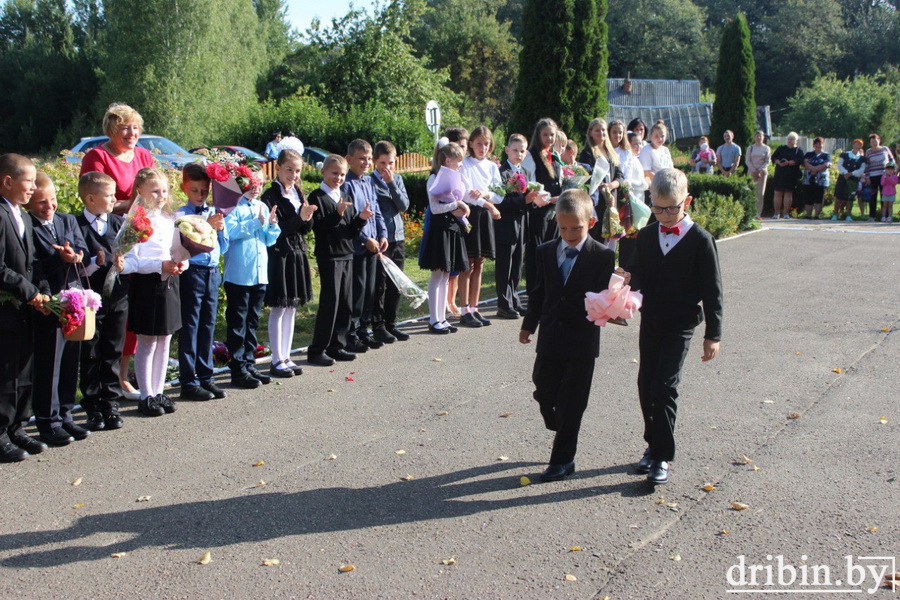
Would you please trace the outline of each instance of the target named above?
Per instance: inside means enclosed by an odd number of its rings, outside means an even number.
[[[588,237],[563,283],[557,264],[561,243],[565,242],[553,240],[537,248],[537,280],[528,296],[522,329],[534,332],[540,325],[538,354],[596,358],[600,355],[600,328],[587,320],[584,295],[609,287],[616,253]]]

